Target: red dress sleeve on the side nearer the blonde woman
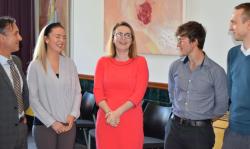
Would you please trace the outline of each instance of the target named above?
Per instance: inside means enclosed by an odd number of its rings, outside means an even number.
[[[102,57],[97,62],[94,78],[94,95],[97,104],[106,99],[103,88],[104,66],[105,58]]]

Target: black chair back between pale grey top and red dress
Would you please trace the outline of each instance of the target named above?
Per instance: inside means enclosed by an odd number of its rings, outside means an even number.
[[[93,120],[94,107],[95,107],[94,94],[86,91],[82,96],[80,119]]]

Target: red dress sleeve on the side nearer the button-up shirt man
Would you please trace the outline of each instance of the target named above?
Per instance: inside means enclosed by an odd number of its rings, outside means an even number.
[[[136,86],[129,100],[135,105],[139,105],[144,97],[148,85],[148,65],[144,57],[138,58],[136,74]]]

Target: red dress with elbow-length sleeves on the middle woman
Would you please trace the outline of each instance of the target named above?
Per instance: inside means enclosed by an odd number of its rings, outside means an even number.
[[[99,109],[96,122],[97,149],[142,149],[143,112],[141,101],[148,83],[148,67],[144,57],[121,62],[102,57],[96,66],[94,95],[96,103],[106,100],[111,110],[126,101],[134,107],[124,112],[117,127],[106,124],[105,113]]]

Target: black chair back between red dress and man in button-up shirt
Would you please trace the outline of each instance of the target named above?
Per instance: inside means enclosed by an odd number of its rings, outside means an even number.
[[[171,115],[171,107],[148,102],[144,111],[144,136],[164,140],[165,126]]]

